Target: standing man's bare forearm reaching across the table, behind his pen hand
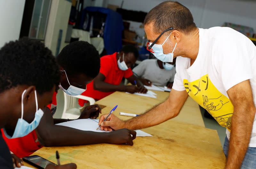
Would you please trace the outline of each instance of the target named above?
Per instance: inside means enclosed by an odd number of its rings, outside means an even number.
[[[148,112],[125,121],[124,128],[136,130],[155,126],[171,118],[174,118],[179,114],[179,112],[180,110],[175,110],[172,108],[167,99]]]

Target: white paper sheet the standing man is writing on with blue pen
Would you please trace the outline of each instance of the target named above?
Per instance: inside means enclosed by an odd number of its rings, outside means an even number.
[[[96,130],[98,127],[99,119],[79,119],[79,120],[73,120],[73,121],[67,121],[63,123],[59,123],[56,125],[60,126],[67,126],[79,130],[84,131],[95,131],[95,132],[109,132],[109,131],[102,131],[100,129]],[[136,136],[151,136],[150,134],[141,131],[141,130],[135,130],[137,132]]]

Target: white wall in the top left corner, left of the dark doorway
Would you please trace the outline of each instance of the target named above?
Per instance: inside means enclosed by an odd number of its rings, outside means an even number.
[[[0,48],[19,39],[24,6],[25,0],[0,0]]]

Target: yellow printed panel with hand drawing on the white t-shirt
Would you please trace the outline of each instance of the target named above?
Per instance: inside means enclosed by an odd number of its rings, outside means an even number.
[[[234,107],[228,97],[213,85],[208,75],[194,81],[183,79],[183,84],[188,95],[230,131]]]

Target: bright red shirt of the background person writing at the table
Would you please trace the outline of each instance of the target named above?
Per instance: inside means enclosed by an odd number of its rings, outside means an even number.
[[[129,78],[133,75],[131,68],[125,71],[118,68],[116,54],[117,52],[112,55],[102,56],[100,58],[100,73],[102,73],[106,77],[104,82],[111,85],[120,85],[123,77]],[[94,81],[87,85],[87,89],[84,93],[82,93],[82,95],[92,97],[96,100],[100,100],[113,93],[94,90],[93,83]],[[87,103],[87,101],[79,99],[78,103],[80,106],[84,106],[84,103]]]

